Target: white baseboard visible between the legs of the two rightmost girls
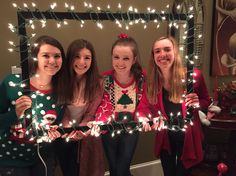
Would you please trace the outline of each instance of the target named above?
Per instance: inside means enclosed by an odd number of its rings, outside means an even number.
[[[130,167],[130,170],[134,176],[163,176],[160,160],[135,164]],[[109,172],[106,172],[105,176],[109,176]]]

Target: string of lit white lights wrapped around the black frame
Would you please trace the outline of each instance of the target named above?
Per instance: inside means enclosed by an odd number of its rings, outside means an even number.
[[[34,31],[37,26],[35,25],[36,22],[39,22],[41,24],[40,25],[41,28],[45,28],[47,27],[48,19],[55,20],[56,27],[58,29],[61,29],[63,25],[69,25],[69,20],[78,21],[80,27],[84,27],[86,25],[86,21],[90,20],[90,21],[93,21],[96,24],[96,26],[101,30],[104,28],[103,21],[105,20],[106,21],[109,20],[113,22],[114,24],[116,24],[119,28],[123,28],[125,30],[129,30],[130,27],[134,25],[138,25],[138,24],[143,25],[143,29],[145,30],[147,29],[148,24],[150,22],[153,22],[154,24],[156,24],[156,28],[158,29],[163,21],[167,21],[169,23],[168,25],[169,28],[175,28],[176,30],[178,30],[181,26],[182,29],[185,30],[182,38],[184,39],[186,45],[192,44],[191,40],[194,40],[196,38],[194,33],[189,34],[189,31],[194,30],[194,25],[188,26],[189,24],[187,23],[187,21],[194,18],[194,15],[193,15],[194,7],[192,6],[189,7],[189,10],[187,13],[173,14],[170,9],[169,4],[166,5],[166,8],[164,10],[161,10],[159,12],[154,8],[147,7],[147,11],[143,13],[140,13],[139,10],[133,6],[128,7],[127,10],[123,10],[121,3],[118,4],[117,10],[114,11],[114,10],[111,10],[110,5],[107,5],[106,9],[102,9],[99,6],[94,8],[91,3],[84,2],[85,12],[76,11],[76,7],[68,3],[64,4],[65,12],[55,11],[57,7],[57,3],[50,4],[49,9],[46,11],[39,10],[37,8],[36,3],[34,2],[32,2],[31,5],[23,3],[23,7],[18,6],[16,3],[13,3],[12,5],[14,8],[17,9],[18,17],[22,21],[18,25],[13,25],[9,23],[8,28],[10,29],[11,32],[16,33],[21,39],[23,38],[23,41],[21,40],[20,45],[15,44],[15,42],[13,41],[9,41],[10,48],[8,50],[10,52],[15,51],[15,52],[21,53],[21,57],[23,57],[21,59],[21,63],[24,63],[24,65],[26,65],[26,67],[22,66],[22,71],[27,70],[26,61],[31,58],[29,55],[30,54],[29,49],[32,45],[35,45],[35,43],[32,42],[32,38],[34,38],[34,36],[36,35],[35,33],[26,35],[26,32],[24,30],[26,27],[30,27],[32,31]],[[183,21],[179,22],[181,19],[184,19],[185,22],[184,23]],[[202,34],[199,34],[197,37],[201,38]],[[183,50],[183,48],[180,47],[180,50]],[[185,56],[186,64],[190,65],[188,74],[189,72],[190,73],[193,72],[192,70],[192,67],[194,64],[193,58],[194,59],[198,58],[198,56],[194,55],[193,52],[190,52],[188,55]],[[37,61],[37,59],[35,58],[33,59]],[[26,74],[23,73],[22,77],[23,77],[22,79],[23,79],[24,87],[26,87],[26,89],[30,91],[29,88],[27,88],[27,81],[29,81],[28,72],[26,71]],[[191,84],[194,82],[192,77],[193,75],[189,74],[189,78],[187,78],[186,80],[182,80],[184,84],[190,85],[188,86],[189,91],[192,90]],[[25,82],[26,82],[26,85],[25,85]],[[14,85],[14,83],[12,83],[12,85]],[[36,99],[37,99],[37,96],[43,96],[40,93],[33,93],[32,95]],[[184,95],[183,95],[183,98],[184,98]],[[34,120],[35,118],[37,118],[36,112],[37,112],[38,106],[40,105],[36,103],[34,107],[32,107],[32,112],[34,113],[32,113],[29,116],[30,118],[32,118],[32,123],[29,124],[28,134],[30,135],[30,138],[32,138],[32,140],[36,139],[38,142],[42,142],[42,141],[45,141],[44,139],[47,137],[47,130],[49,129],[49,127],[43,124],[38,124],[37,120]],[[170,130],[185,131],[188,125],[193,125],[192,115],[188,111],[191,111],[191,108],[187,109],[188,117],[185,119],[179,118],[180,116],[179,114],[171,115],[171,118],[169,121],[164,119],[165,125],[163,126],[163,129],[168,128]],[[150,115],[147,115],[147,117],[150,118]],[[174,122],[175,119],[178,119],[177,123]],[[75,122],[72,121],[70,123],[72,127],[67,130],[80,129],[80,127],[78,127]],[[120,134],[123,131],[133,133],[133,131],[135,130],[140,131],[140,129],[142,128],[142,124],[140,124],[139,122],[134,123],[135,124],[134,126],[131,125],[132,128],[130,127],[130,124],[131,122],[127,124],[123,124],[123,123],[114,121],[112,123],[102,124],[101,128],[104,128],[110,131],[112,136],[116,134]],[[60,125],[59,129],[61,129],[61,131],[64,133],[67,131],[66,129],[62,128],[62,125]],[[161,129],[158,129],[158,130],[161,130]]]

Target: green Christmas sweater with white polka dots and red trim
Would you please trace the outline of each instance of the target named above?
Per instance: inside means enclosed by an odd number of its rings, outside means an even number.
[[[23,95],[22,85],[20,75],[9,75],[0,84],[0,166],[33,165],[37,142],[47,140],[48,127],[62,118],[63,108],[56,106],[50,91],[37,90],[32,85],[32,108],[17,118],[15,101]],[[44,144],[45,148],[49,145]]]

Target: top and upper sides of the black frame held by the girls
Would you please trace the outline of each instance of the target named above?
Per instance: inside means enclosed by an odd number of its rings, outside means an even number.
[[[17,11],[18,34],[20,36],[20,59],[22,69],[22,81],[26,83],[25,90],[29,90],[29,68],[28,68],[28,37],[26,33],[26,20],[93,20],[93,21],[116,21],[116,20],[136,20],[142,19],[146,22],[158,20],[162,21],[186,21],[187,23],[187,92],[193,91],[193,52],[194,52],[194,18],[189,18],[186,14],[157,14],[157,13],[107,13],[107,12],[52,12],[52,11]],[[191,81],[189,81],[191,80]],[[26,91],[27,92],[27,91]],[[191,118],[192,110],[188,110],[187,118]]]

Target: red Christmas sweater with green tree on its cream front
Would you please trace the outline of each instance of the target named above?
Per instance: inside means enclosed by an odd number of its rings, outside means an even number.
[[[96,112],[96,121],[134,121],[134,113],[143,94],[144,74],[136,82],[133,79],[122,86],[114,77],[114,71],[107,71],[104,76],[104,94],[101,105]]]

